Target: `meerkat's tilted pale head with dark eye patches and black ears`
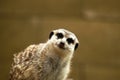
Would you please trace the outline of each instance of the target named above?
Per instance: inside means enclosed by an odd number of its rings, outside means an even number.
[[[65,29],[53,30],[49,35],[49,41],[60,50],[75,51],[78,47],[77,37]]]

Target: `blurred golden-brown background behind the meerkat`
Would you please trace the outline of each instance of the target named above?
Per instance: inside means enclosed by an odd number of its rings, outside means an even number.
[[[1,0],[0,80],[8,80],[13,54],[65,28],[80,41],[74,80],[120,80],[120,0]]]

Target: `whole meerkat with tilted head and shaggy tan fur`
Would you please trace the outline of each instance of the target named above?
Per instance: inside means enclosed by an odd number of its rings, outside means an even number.
[[[68,30],[51,31],[46,43],[14,54],[9,80],[67,80],[78,44],[75,34]]]

